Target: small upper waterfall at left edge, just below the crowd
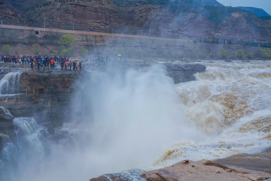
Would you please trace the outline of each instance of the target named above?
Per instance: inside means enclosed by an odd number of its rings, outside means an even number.
[[[9,72],[0,80],[0,93],[17,94],[19,93],[20,78],[22,72]]]

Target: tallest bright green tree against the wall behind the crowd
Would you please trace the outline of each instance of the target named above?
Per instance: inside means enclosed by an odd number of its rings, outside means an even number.
[[[60,37],[58,43],[60,44],[60,55],[61,56],[71,56],[73,51],[73,41],[74,36],[71,36],[70,34],[63,35]]]

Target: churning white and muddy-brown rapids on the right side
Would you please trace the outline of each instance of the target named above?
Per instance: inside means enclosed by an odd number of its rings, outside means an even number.
[[[196,81],[175,85],[187,120],[208,136],[179,141],[152,168],[182,159],[217,159],[271,146],[271,68],[267,63],[206,63]]]

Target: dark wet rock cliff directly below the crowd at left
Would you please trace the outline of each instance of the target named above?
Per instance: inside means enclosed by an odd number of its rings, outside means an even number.
[[[5,65],[2,65],[2,68]],[[14,117],[34,117],[39,125],[45,126],[54,135],[55,129],[70,118],[72,94],[75,92],[80,73],[42,70],[23,72],[20,78],[20,101],[18,95],[4,95],[5,104],[1,102],[4,108],[0,108],[0,150],[16,136],[12,118],[2,114],[5,108]]]

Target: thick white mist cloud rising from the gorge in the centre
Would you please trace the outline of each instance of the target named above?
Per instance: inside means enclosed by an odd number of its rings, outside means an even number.
[[[69,141],[47,144],[49,153],[31,168],[22,168],[26,171],[16,178],[88,180],[149,167],[165,147],[198,140],[202,134],[186,122],[179,95],[162,66],[146,72],[107,72],[99,79],[91,72],[74,97],[73,121],[62,129]]]

